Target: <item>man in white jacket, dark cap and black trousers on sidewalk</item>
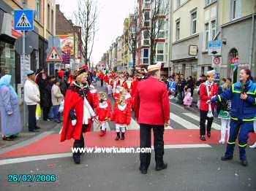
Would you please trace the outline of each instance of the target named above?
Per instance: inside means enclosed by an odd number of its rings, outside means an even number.
[[[36,109],[37,104],[40,103],[40,92],[37,83],[34,82],[36,79],[34,71],[29,70],[27,76],[28,79],[26,79],[24,85],[24,100],[29,110],[29,131],[38,132],[39,127],[37,127]]]

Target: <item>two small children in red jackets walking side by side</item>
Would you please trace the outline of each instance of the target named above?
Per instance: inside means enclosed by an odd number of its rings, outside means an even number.
[[[119,139],[124,140],[126,128],[132,118],[132,97],[129,91],[125,90],[121,85],[116,85],[115,90],[112,92],[113,98],[116,100],[113,112],[108,95],[104,92],[97,93],[96,88],[93,85],[90,86],[90,93],[97,115],[95,120],[100,128],[99,136],[105,136],[107,129],[109,129],[108,122],[113,121],[116,123],[116,141]]]

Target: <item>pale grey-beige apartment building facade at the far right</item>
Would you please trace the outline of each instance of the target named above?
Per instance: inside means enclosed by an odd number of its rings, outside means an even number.
[[[219,78],[236,82],[240,69],[255,70],[255,4],[253,0],[173,0],[170,70],[186,77],[206,74],[214,67],[208,42],[216,40],[222,41]]]

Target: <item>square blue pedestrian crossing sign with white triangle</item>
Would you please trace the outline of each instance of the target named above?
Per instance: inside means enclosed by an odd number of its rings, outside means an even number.
[[[14,29],[16,31],[33,31],[34,10],[15,10]]]

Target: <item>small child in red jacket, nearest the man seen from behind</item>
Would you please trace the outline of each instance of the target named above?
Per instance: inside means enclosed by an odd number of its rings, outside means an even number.
[[[115,109],[112,115],[112,121],[116,122],[116,141],[120,139],[124,140],[124,133],[127,126],[130,124],[132,118],[131,108],[128,106],[125,97],[123,95],[118,99],[117,104],[115,104]]]

